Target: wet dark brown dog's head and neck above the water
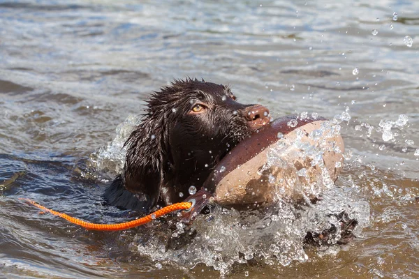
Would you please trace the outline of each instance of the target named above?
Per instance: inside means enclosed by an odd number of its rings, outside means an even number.
[[[217,163],[269,123],[262,105],[238,103],[228,86],[175,80],[154,92],[140,125],[125,143],[126,160],[105,191],[113,206],[148,213],[200,188]]]

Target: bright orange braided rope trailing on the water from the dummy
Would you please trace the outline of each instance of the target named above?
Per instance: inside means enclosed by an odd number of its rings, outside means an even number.
[[[22,198],[20,198],[22,199]],[[59,213],[57,211],[54,211],[52,209],[47,209],[45,206],[42,206],[41,204],[37,204],[31,199],[22,199],[24,201],[29,202],[30,204],[33,204],[34,206],[38,207],[38,209],[42,209],[45,211],[48,211],[54,215],[57,215],[61,218],[64,218],[68,220],[69,222],[80,225],[86,229],[96,230],[96,231],[120,231],[122,229],[131,229],[131,227],[137,227],[140,225],[144,225],[145,223],[149,223],[152,220],[159,218],[163,215],[166,215],[167,213],[170,213],[172,211],[177,210],[184,210],[184,209],[190,209],[192,206],[191,202],[179,202],[177,204],[170,204],[166,207],[163,207],[163,209],[159,209],[158,211],[155,211],[152,214],[149,214],[145,217],[142,217],[140,219],[132,220],[125,223],[119,223],[119,224],[95,224],[95,223],[89,223],[83,220],[80,220],[78,218],[74,218],[71,216],[68,216],[65,213]]]

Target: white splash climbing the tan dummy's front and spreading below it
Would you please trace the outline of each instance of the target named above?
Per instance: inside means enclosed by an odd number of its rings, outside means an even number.
[[[198,216],[192,225],[179,222],[170,225],[169,221],[171,230],[166,227],[164,232],[159,227],[154,228],[159,233],[138,234],[132,243],[133,251],[181,269],[193,269],[197,264],[212,266],[223,277],[236,264],[249,261],[270,266],[307,262],[309,256],[304,250],[307,232],[328,231],[327,243],[340,243],[342,218],[357,220],[353,235],[362,236],[362,229],[369,225],[368,202],[353,197],[347,188],[336,187],[323,162],[325,152],[337,151],[336,146],[327,142],[339,135],[339,131],[339,124],[326,121],[309,135],[316,144],[302,141],[301,131],[293,142],[282,141],[270,149],[265,167],[275,165],[287,169],[282,179],[274,175],[270,179],[279,194],[274,204],[253,211],[216,205],[209,214]],[[295,169],[291,158],[296,157],[309,158],[321,168],[316,183],[303,183],[301,179],[307,180],[307,169]],[[286,188],[298,191],[301,202],[280,198]],[[321,199],[312,203],[310,197]]]

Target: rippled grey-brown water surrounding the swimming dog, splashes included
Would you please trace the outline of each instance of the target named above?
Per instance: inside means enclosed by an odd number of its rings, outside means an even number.
[[[417,1],[1,1],[0,274],[418,278],[418,12]],[[148,94],[185,76],[231,84],[274,117],[332,119],[346,144],[338,187],[309,208],[216,207],[192,227],[111,233],[17,200],[135,218],[103,205],[103,189]],[[341,209],[365,221],[354,241],[297,241]]]

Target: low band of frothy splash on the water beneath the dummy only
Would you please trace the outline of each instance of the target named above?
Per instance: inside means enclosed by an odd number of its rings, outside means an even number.
[[[225,276],[235,264],[256,261],[270,266],[288,266],[294,261],[307,262],[304,239],[307,232],[320,234],[336,228],[329,244],[339,243],[339,213],[358,220],[353,230],[362,236],[369,225],[369,204],[352,199],[340,188],[323,193],[323,199],[309,206],[279,201],[265,211],[240,212],[215,206],[211,213],[200,215],[186,227],[176,225],[175,232],[138,234],[133,251],[157,262],[183,269],[197,264],[212,266]],[[193,236],[194,237],[191,237]]]

